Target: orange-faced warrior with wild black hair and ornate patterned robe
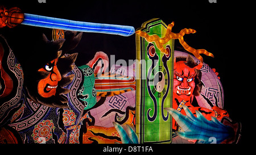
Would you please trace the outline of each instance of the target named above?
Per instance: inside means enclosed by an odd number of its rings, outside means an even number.
[[[77,53],[67,52],[82,33],[65,31],[65,39],[48,40],[48,31],[38,28],[1,30],[0,143],[65,143],[71,134],[65,127],[79,122],[66,118],[81,112],[68,102]],[[49,130],[38,132],[42,128]]]

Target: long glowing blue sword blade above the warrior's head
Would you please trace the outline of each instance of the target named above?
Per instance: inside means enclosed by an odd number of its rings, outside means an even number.
[[[22,24],[36,27],[56,28],[79,32],[107,33],[121,36],[130,36],[135,33],[134,27],[132,26],[79,22],[32,14],[24,14]]]

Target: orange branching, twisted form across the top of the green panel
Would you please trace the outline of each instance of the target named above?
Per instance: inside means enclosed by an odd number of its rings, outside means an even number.
[[[158,35],[148,35],[146,32],[141,30],[136,31],[139,36],[144,37],[148,42],[155,42],[156,47],[160,49],[160,51],[166,55],[168,55],[167,49],[163,47],[170,39],[179,39],[180,44],[184,47],[185,50],[191,52],[196,58],[200,60],[200,65],[203,65],[203,57],[200,54],[204,54],[210,57],[214,57],[212,53],[206,51],[205,49],[195,49],[190,47],[183,39],[185,34],[196,33],[196,30],[191,28],[184,28],[179,33],[172,32],[172,27],[174,27],[174,22],[168,25],[166,35],[160,38]]]

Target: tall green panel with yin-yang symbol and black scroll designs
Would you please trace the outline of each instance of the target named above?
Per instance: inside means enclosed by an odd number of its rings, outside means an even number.
[[[141,31],[163,37],[166,24],[159,19],[143,23]],[[172,60],[174,40],[168,41],[168,55],[154,43],[137,36],[137,134],[141,143],[171,143],[171,116],[164,107],[172,103]]]

